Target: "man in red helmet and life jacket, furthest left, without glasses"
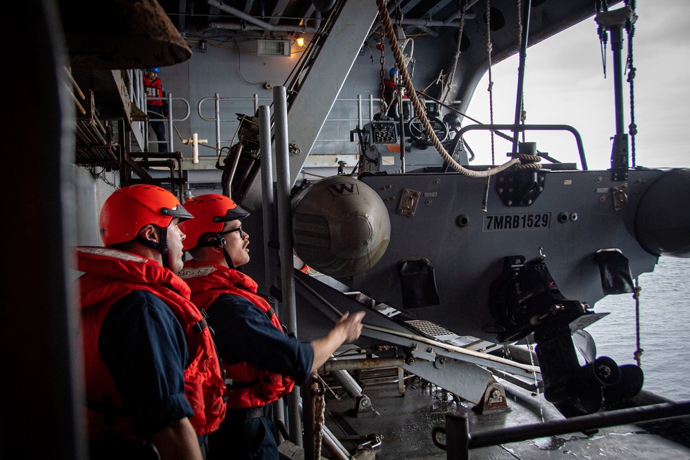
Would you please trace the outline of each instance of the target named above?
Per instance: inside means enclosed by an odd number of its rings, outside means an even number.
[[[210,328],[190,301],[168,190],[135,185],[103,204],[106,248],[77,248],[92,459],[201,459],[225,414]]]

